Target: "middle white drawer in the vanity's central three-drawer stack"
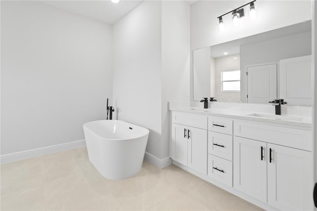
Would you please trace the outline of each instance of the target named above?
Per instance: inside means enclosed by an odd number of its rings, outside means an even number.
[[[209,131],[208,153],[232,161],[232,135]]]

